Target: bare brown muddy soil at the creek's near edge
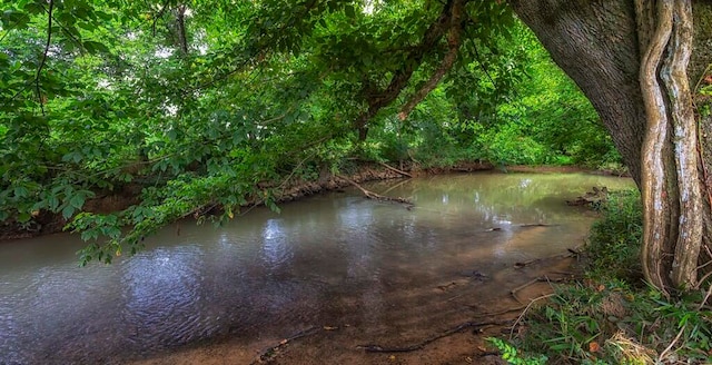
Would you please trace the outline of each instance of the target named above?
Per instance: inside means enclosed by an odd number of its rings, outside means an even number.
[[[434,290],[433,296],[436,298],[444,295],[439,292],[447,292],[443,306],[449,306],[451,310],[458,308],[459,317],[453,318],[452,323],[442,323],[442,318],[434,314],[431,334],[404,332],[394,338],[368,338],[358,327],[328,324],[296,336],[284,334],[285,338],[261,338],[249,343],[228,338],[194,345],[130,364],[506,364],[486,338],[516,336],[526,331],[526,325],[517,322],[526,305],[538,305],[545,300],[546,294],[552,293],[552,284],[547,279],[571,279],[575,275],[575,264],[572,257],[558,256],[516,265],[504,269],[476,292],[462,283],[448,283],[445,288]],[[458,326],[463,327],[462,331],[455,332]],[[377,353],[365,348],[365,345],[409,347],[446,333],[448,335],[409,352]]]

